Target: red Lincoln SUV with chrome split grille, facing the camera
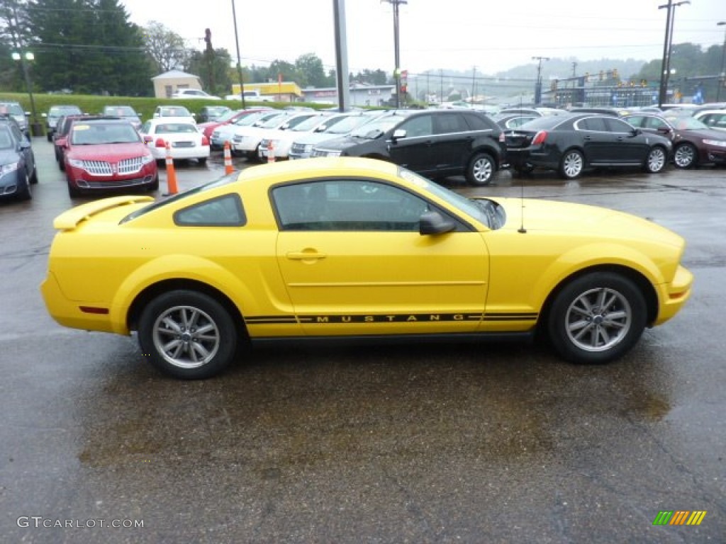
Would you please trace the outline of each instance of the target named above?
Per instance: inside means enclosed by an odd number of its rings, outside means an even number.
[[[70,197],[99,189],[159,188],[156,161],[128,120],[76,120],[63,160]]]

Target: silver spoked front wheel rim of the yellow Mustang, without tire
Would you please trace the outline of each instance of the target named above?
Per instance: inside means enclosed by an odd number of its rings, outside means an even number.
[[[626,337],[633,315],[623,294],[598,287],[580,294],[567,309],[565,320],[573,345],[588,352],[602,352]]]

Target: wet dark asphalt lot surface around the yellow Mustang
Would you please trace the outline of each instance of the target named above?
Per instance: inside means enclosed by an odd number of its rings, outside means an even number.
[[[33,201],[0,203],[0,542],[726,542],[725,169],[525,179],[688,242],[685,309],[611,365],[539,345],[264,347],[181,382],[134,338],[47,316],[52,218],[72,202],[33,145]],[[215,156],[179,165],[180,188],[221,175]],[[508,173],[450,183],[521,191]]]

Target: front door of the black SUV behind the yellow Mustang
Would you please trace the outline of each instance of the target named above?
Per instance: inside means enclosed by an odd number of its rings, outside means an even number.
[[[405,136],[398,137],[405,131]],[[420,174],[436,168],[433,153],[433,115],[412,115],[386,134],[386,147],[391,161]]]

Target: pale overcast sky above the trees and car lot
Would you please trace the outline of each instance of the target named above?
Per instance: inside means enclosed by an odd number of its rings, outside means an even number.
[[[204,49],[236,58],[232,1],[242,65],[295,62],[314,53],[335,68],[333,0],[121,0],[132,22],[156,20]],[[399,8],[401,68],[452,68],[494,74],[531,57],[656,59],[663,54],[667,0],[407,0]],[[393,7],[388,0],[346,0],[348,69],[393,71]],[[675,8],[673,43],[704,48],[725,39],[726,0],[690,0]]]

